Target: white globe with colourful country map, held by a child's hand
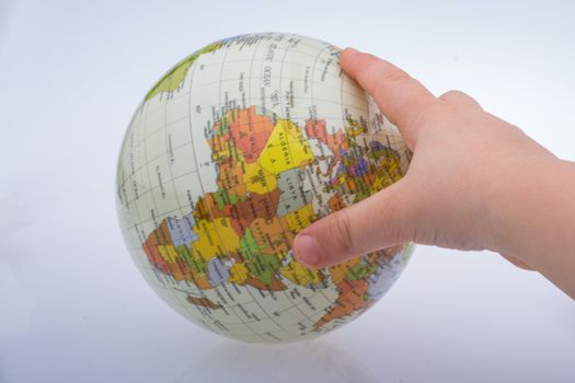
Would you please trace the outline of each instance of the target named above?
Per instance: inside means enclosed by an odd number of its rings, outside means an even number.
[[[136,109],[119,223],[148,283],[199,326],[255,343],[313,338],[371,307],[404,269],[413,244],[318,270],[294,257],[299,231],[396,182],[411,159],[340,51],[292,34],[225,38]]]

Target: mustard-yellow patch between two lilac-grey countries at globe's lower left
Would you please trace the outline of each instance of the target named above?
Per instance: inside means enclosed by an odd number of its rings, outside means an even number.
[[[214,222],[199,220],[194,227],[198,239],[192,246],[195,257],[206,262],[216,255],[228,255],[240,249],[240,237],[231,227],[229,218],[217,218]]]

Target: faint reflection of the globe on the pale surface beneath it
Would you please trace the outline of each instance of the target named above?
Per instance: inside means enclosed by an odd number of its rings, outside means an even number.
[[[208,348],[175,380],[200,382],[379,382],[340,346],[325,340],[285,345],[226,341]]]

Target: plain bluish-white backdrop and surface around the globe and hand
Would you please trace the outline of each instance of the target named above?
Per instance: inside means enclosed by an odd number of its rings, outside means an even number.
[[[574,2],[340,3],[0,0],[0,382],[575,381],[575,303],[496,254],[419,246],[370,312],[287,346],[199,329],[133,265],[124,131],[165,70],[229,35],[377,54],[575,160]]]

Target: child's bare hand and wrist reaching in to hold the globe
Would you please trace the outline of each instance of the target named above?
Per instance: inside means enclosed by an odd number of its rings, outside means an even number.
[[[575,299],[575,163],[462,92],[436,97],[355,49],[341,65],[399,127],[413,159],[398,183],[302,230],[297,259],[325,267],[404,242],[488,249]]]

